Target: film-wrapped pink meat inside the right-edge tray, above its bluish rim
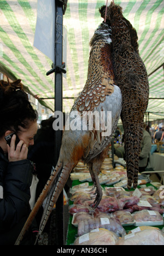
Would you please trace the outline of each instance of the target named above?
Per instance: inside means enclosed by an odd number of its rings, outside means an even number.
[[[163,217],[157,211],[142,210],[139,212],[134,212],[132,216],[136,222],[163,221]]]

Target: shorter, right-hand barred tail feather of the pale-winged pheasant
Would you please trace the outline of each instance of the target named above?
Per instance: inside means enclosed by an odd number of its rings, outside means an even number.
[[[69,177],[69,174],[71,173],[73,168],[72,164],[69,164],[67,166],[63,166],[61,172],[58,173],[58,177],[56,178],[55,184],[54,184],[54,192],[50,197],[48,198],[48,207],[46,211],[44,211],[42,220],[40,222],[39,232],[37,236],[37,240],[39,236],[42,234],[44,227],[49,219],[49,216],[54,208],[54,205],[58,199],[58,196],[61,194],[61,191],[63,187],[65,187],[65,184],[67,182],[67,179]],[[37,241],[36,240],[36,241]]]

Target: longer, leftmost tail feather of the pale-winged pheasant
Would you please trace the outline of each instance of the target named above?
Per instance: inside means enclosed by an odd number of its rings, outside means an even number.
[[[30,215],[28,216],[28,219],[26,220],[24,227],[22,228],[19,236],[17,237],[15,245],[20,245],[22,239],[24,238],[25,233],[28,231],[30,225],[33,222],[33,219],[36,217],[36,214],[37,214],[40,206],[42,206],[43,201],[45,200],[46,196],[48,195],[48,193],[52,187],[52,184],[54,184],[57,174],[58,174],[58,172],[60,172],[61,168],[62,168],[62,163],[58,162],[57,167],[55,168],[54,172],[52,172],[50,178],[48,179],[48,182],[45,184],[45,187],[42,190],[42,193],[38,197],[38,200],[37,200],[36,204],[34,205]]]

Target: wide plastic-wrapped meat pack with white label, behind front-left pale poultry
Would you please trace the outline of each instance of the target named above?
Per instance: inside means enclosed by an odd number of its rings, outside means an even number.
[[[122,228],[120,220],[117,218],[94,218],[82,220],[78,225],[78,235],[84,235],[89,233],[93,229],[104,228],[109,231],[113,231],[116,235],[122,236],[126,235],[125,229]]]

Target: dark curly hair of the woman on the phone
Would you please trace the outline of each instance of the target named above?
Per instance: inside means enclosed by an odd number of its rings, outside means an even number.
[[[38,118],[36,110],[28,101],[20,79],[15,82],[0,80],[0,137],[7,130],[20,131],[28,128],[30,121]]]

